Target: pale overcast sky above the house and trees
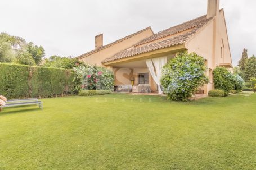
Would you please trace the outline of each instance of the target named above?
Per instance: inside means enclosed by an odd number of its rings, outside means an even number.
[[[255,0],[221,0],[233,65],[256,54]],[[0,32],[42,45],[46,57],[73,56],[151,26],[154,33],[207,13],[207,0],[0,0]]]

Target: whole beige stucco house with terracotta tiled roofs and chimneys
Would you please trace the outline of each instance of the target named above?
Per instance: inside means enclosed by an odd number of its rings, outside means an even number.
[[[95,50],[78,56],[80,61],[113,70],[116,85],[147,85],[161,93],[161,67],[186,50],[204,57],[210,82],[201,90],[213,89],[213,69],[232,68],[224,10],[219,0],[208,0],[207,14],[169,29],[153,33],[150,27],[103,45],[103,35],[95,37]]]

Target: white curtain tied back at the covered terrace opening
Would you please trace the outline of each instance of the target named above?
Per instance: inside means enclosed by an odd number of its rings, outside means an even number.
[[[158,94],[163,94],[161,90],[161,75],[162,75],[162,68],[167,63],[167,57],[159,57],[159,58],[152,58],[146,59],[147,68],[149,68],[149,72],[153,77],[155,83],[158,85]],[[155,66],[155,67],[154,67]]]

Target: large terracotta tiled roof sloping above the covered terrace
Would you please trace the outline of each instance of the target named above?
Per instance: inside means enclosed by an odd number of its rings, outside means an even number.
[[[194,20],[190,20],[187,22],[184,22],[183,24],[179,24],[174,27],[170,27],[169,29],[160,31],[159,33],[156,33],[154,35],[151,35],[149,38],[145,38],[141,40],[141,42],[134,45],[134,48],[129,48],[126,50],[123,50],[119,53],[116,53],[114,56],[110,58],[106,58],[102,63],[115,61],[118,59],[126,58],[126,57],[132,57],[136,56],[137,54],[147,53],[151,52],[153,50],[163,49],[167,47],[171,47],[173,45],[183,44],[188,39],[190,39],[197,31],[201,29],[204,25],[206,25],[211,19],[207,19],[207,16],[201,16]],[[184,33],[182,33],[184,32]],[[180,33],[180,34],[177,34]],[[175,36],[174,34],[177,34]],[[171,36],[169,39],[164,39],[167,36]],[[156,42],[156,40],[159,40]]]

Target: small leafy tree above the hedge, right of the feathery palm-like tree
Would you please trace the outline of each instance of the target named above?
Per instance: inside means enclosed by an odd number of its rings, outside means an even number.
[[[40,65],[40,63],[43,61],[45,52],[42,46],[38,47],[37,45],[34,45],[34,43],[30,42],[26,47],[26,52],[30,53],[32,58],[34,58],[37,66]]]

